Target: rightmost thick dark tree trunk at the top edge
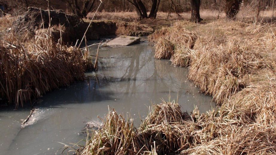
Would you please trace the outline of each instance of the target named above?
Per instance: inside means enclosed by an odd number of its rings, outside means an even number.
[[[225,13],[228,19],[236,19],[236,15],[240,10],[241,0],[226,0]]]

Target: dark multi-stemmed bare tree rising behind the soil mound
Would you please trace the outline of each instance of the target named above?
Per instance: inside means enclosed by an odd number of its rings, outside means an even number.
[[[93,10],[96,0],[63,0],[74,14],[80,18],[85,18]]]

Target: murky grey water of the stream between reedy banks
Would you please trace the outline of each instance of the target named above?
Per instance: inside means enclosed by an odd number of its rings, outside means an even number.
[[[92,55],[96,55],[96,48],[91,48]],[[89,80],[43,96],[36,106],[34,122],[23,129],[22,119],[31,109],[1,110],[0,154],[60,154],[57,151],[64,145],[58,142],[85,139],[81,133],[85,122],[104,117],[108,105],[125,116],[131,114],[136,124],[139,115],[147,115],[151,102],[160,103],[162,98],[167,101],[169,94],[171,100],[178,96],[183,111],[192,111],[197,105],[205,112],[215,106],[210,96],[199,93],[188,81],[187,68],[155,60],[153,50],[148,42],[100,49],[99,56],[114,58],[100,59],[99,71],[86,73]]]

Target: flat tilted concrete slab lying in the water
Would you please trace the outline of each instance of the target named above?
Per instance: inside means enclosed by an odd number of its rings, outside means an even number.
[[[128,46],[132,44],[137,44],[140,42],[140,37],[132,36],[119,36],[109,42],[104,43],[102,46]]]

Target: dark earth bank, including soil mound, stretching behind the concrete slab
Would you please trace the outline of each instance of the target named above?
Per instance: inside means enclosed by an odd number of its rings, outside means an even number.
[[[49,17],[50,15],[50,17]],[[51,23],[49,22],[51,19]],[[74,43],[82,39],[89,20],[65,13],[63,10],[40,10],[29,7],[28,11],[13,22],[13,30],[23,39],[45,32],[51,26],[51,32],[57,41],[62,37],[65,44]],[[44,30],[43,30],[44,29]],[[119,20],[93,21],[89,27],[86,39],[99,39],[110,35],[147,36],[153,33],[153,29],[136,22],[123,22]]]

